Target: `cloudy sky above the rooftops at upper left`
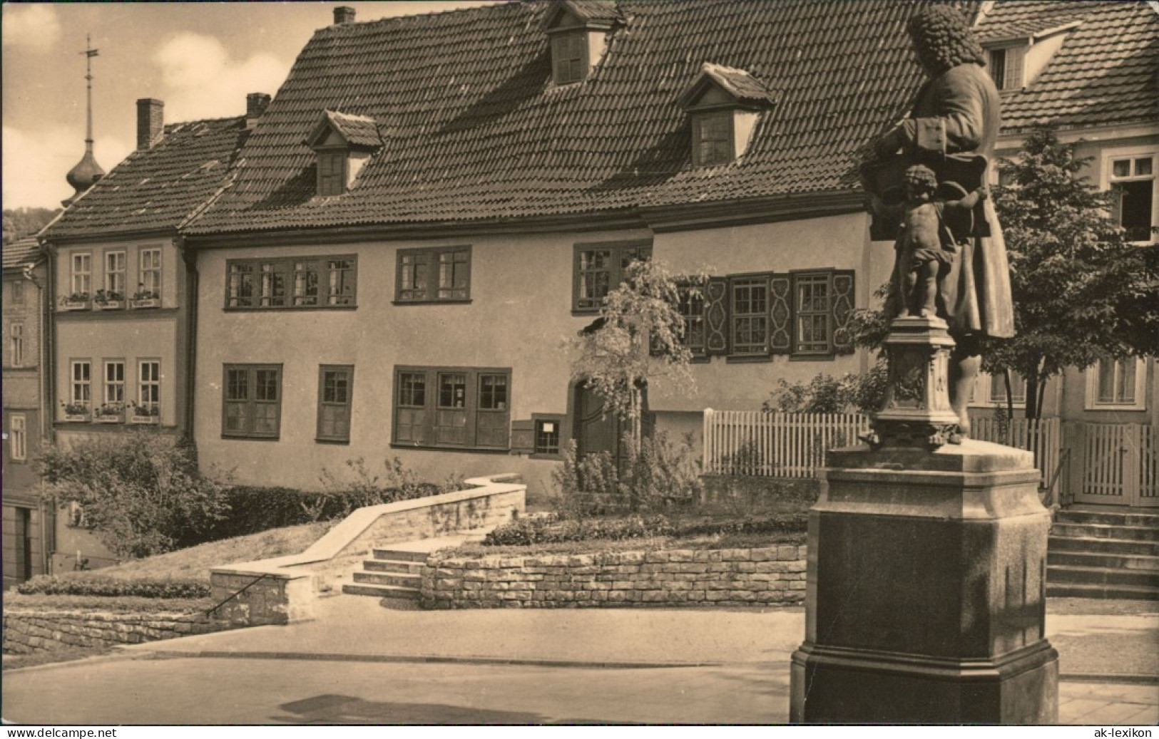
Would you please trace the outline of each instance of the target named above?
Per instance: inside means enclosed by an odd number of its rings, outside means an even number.
[[[165,101],[167,123],[241,115],[247,93],[277,92],[338,5],[370,21],[489,2],[5,2],[3,207],[57,207],[72,195],[86,35],[100,51],[93,138],[108,171],[136,146],[138,98]]]

